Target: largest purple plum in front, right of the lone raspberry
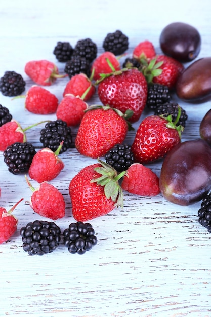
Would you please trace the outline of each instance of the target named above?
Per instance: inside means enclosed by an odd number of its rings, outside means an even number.
[[[187,206],[200,201],[211,189],[211,147],[199,138],[176,145],[167,153],[160,171],[163,197]]]

